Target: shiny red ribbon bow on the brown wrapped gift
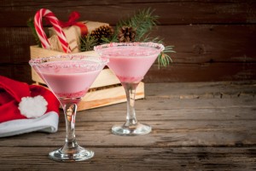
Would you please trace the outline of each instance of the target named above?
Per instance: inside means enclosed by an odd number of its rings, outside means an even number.
[[[73,11],[69,15],[67,22],[63,22],[63,21],[59,20],[59,24],[62,28],[67,27],[67,26],[79,26],[81,35],[82,36],[87,35],[88,34],[87,26],[85,26],[85,24],[83,22],[77,22],[77,20],[79,20],[79,17],[80,17],[79,12]]]

